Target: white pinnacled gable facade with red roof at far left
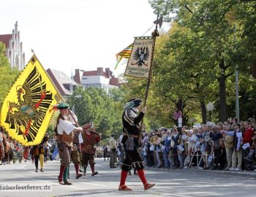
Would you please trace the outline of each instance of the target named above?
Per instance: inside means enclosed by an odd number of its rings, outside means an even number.
[[[0,42],[6,47],[6,55],[12,68],[23,70],[25,67],[25,53],[23,53],[22,42],[20,42],[20,31],[18,31],[18,22],[12,34],[0,35]]]

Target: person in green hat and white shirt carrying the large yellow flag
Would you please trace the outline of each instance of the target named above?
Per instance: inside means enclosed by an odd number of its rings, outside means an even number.
[[[72,150],[73,133],[81,132],[83,128],[75,127],[68,119],[69,105],[61,103],[57,106],[60,110],[57,118],[56,136],[59,148],[59,158],[61,159],[61,166],[59,171],[59,183],[61,185],[72,185],[67,181],[69,174],[70,152]]]

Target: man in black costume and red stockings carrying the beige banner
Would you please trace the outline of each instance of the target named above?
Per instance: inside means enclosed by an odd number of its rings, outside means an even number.
[[[154,187],[155,184],[148,183],[144,174],[144,163],[140,156],[140,121],[146,113],[146,107],[141,109],[141,99],[131,99],[126,104],[125,110],[122,116],[124,136],[122,142],[124,144],[125,156],[124,163],[121,165],[121,180],[118,190],[132,190],[125,185],[128,171],[132,169],[137,170],[138,176],[144,185],[144,190],[149,190]]]

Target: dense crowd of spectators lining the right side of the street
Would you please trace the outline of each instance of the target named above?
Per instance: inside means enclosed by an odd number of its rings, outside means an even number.
[[[255,170],[255,120],[173,126],[143,132],[141,156],[148,167]],[[121,158],[123,147],[118,146]]]

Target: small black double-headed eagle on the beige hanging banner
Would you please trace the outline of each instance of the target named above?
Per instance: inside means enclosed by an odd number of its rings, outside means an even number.
[[[138,65],[138,66],[148,66],[148,63],[145,63],[149,58],[149,50],[148,47],[138,47],[133,55],[133,60],[135,60],[135,63],[132,63],[132,65]]]

